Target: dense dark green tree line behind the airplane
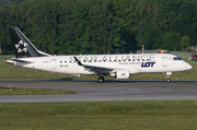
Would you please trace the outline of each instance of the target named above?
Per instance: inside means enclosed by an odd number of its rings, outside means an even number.
[[[4,2],[3,2],[4,1]],[[1,0],[0,48],[18,26],[54,55],[181,50],[197,45],[196,0]]]

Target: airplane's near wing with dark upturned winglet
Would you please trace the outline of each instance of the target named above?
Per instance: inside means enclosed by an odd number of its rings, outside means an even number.
[[[114,69],[112,69],[112,68],[104,68],[104,67],[82,64],[81,61],[78,60],[77,57],[74,57],[74,59],[76,59],[76,61],[77,61],[77,63],[78,63],[79,66],[82,66],[82,67],[84,67],[86,70],[93,71],[93,72],[96,73],[96,74],[108,74],[108,73],[111,73],[111,72],[114,71]]]

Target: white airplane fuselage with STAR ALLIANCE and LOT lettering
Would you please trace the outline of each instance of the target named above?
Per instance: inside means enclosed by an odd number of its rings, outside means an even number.
[[[82,64],[108,68],[113,70],[112,72],[129,70],[130,74],[177,72],[192,69],[190,64],[171,54],[79,55],[76,57]],[[18,58],[18,60],[14,64],[25,68],[66,74],[97,74],[79,66],[73,56]]]

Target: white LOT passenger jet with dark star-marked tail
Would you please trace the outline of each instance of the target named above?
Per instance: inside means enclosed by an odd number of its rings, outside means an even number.
[[[166,82],[172,72],[190,70],[193,67],[172,54],[124,54],[124,55],[73,55],[51,56],[39,51],[16,27],[9,27],[15,58],[5,62],[24,68],[80,76],[99,75],[129,79],[131,74],[166,72]]]

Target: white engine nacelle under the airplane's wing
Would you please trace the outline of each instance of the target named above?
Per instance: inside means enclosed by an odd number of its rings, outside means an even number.
[[[130,71],[129,70],[118,70],[115,73],[112,73],[111,76],[116,79],[129,79]]]

